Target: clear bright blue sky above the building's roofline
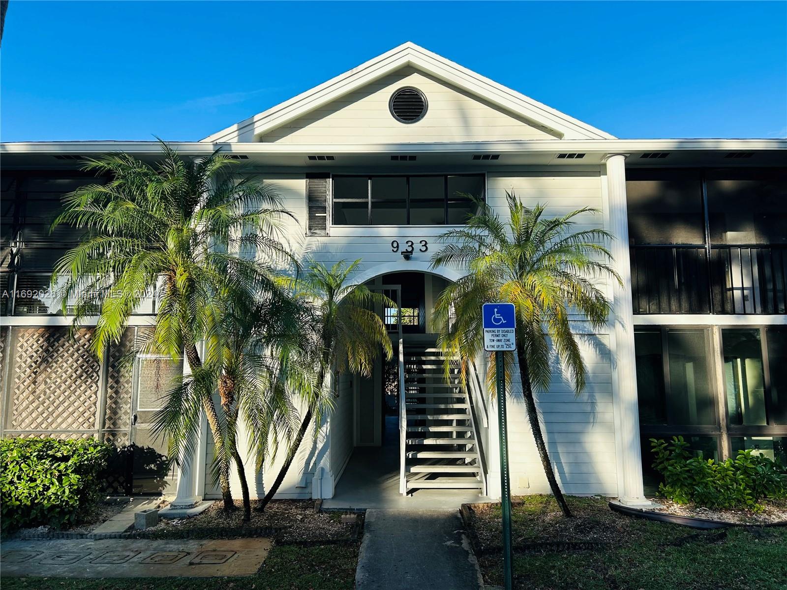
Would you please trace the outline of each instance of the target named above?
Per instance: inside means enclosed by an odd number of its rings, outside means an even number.
[[[787,2],[24,2],[2,141],[198,140],[397,46],[622,138],[787,136]]]

